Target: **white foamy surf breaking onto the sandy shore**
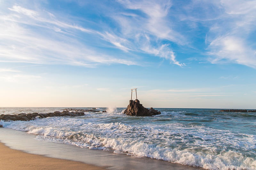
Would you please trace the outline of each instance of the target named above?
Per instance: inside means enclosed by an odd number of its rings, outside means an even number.
[[[166,115],[168,114],[166,113]],[[171,126],[173,129],[173,131],[163,131],[157,125],[154,129],[120,122],[88,123],[84,120],[58,117],[34,120],[33,122],[0,121],[0,124],[5,128],[39,135],[37,136],[38,140],[61,142],[90,149],[103,149],[139,158],[148,157],[212,170],[256,169],[256,160],[253,157],[246,157],[242,153],[228,150],[225,147],[220,149],[212,146],[212,138],[214,136],[220,138],[218,133],[222,131],[207,132],[208,129],[202,128],[200,124],[193,124],[189,134],[185,134],[184,129],[188,127],[182,124],[162,125],[161,128]],[[67,124],[70,126],[66,127]],[[74,125],[76,125],[75,130],[71,128]],[[200,131],[204,131],[204,133],[200,135]],[[227,133],[229,132],[227,131]],[[229,140],[234,138],[232,135],[228,135],[230,136]],[[154,141],[154,138],[160,142]],[[255,136],[245,136],[244,138],[248,144],[255,143]],[[184,145],[191,140],[194,140],[197,146]],[[233,143],[233,141],[225,141],[225,138],[219,142]],[[238,142],[238,145],[247,144],[242,141]],[[217,145],[221,145],[221,143]]]

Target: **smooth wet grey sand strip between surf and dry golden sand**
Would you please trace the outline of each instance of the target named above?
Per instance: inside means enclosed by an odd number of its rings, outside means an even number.
[[[75,161],[81,166],[91,166],[93,168],[111,169],[111,170],[128,170],[128,169],[175,169],[175,170],[203,170],[200,167],[181,165],[171,163],[164,160],[150,158],[134,158],[126,154],[116,154],[103,150],[93,150],[81,148],[75,145],[67,145],[63,143],[52,143],[42,140],[36,140],[37,135],[28,134],[24,131],[15,131],[8,128],[0,128],[0,142],[6,147],[18,150],[24,154],[32,154],[49,159],[60,159],[61,161]],[[14,150],[14,151],[15,151]],[[2,159],[0,159],[2,161]],[[1,162],[0,161],[0,162]],[[30,158],[34,164],[42,162]],[[5,164],[4,161],[3,164]],[[51,162],[51,161],[50,161]],[[2,163],[1,163],[2,164]],[[0,165],[1,165],[0,164]],[[49,164],[47,162],[46,164]],[[1,166],[0,166],[1,167]],[[28,166],[29,167],[29,166]],[[50,166],[51,167],[51,166]],[[7,169],[11,169],[8,167]],[[16,169],[16,168],[13,168]],[[37,169],[37,168],[31,168]],[[40,168],[39,168],[40,169]],[[42,166],[41,166],[42,169]],[[45,168],[48,169],[48,168]],[[59,169],[59,168],[52,168]],[[60,168],[62,169],[62,168]],[[65,169],[65,166],[64,166]],[[68,168],[67,168],[68,169]],[[74,166],[72,169],[83,169]],[[85,169],[85,168],[84,168]],[[87,168],[88,169],[88,168]]]

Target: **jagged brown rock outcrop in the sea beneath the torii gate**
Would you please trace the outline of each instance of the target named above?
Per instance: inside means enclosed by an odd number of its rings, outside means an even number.
[[[160,115],[161,112],[153,109],[152,107],[150,109],[147,109],[140,104],[140,101],[138,99],[136,100],[130,100],[129,105],[124,110],[124,114],[129,116],[154,116],[154,115]]]

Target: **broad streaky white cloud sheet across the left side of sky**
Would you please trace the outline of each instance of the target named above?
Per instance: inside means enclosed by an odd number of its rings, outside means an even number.
[[[0,39],[3,42],[0,45],[0,58],[3,62],[85,67],[112,63],[136,64],[136,61],[124,57],[116,58],[100,53],[77,40],[77,31],[97,35],[96,31],[59,21],[47,11],[34,11],[18,5],[9,8],[9,11],[0,16]],[[125,48],[114,40],[111,42],[119,48]]]

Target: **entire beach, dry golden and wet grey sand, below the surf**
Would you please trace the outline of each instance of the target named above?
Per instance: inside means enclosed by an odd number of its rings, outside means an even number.
[[[37,138],[37,139],[36,139]],[[23,131],[0,128],[0,169],[169,169],[202,170],[163,160],[134,158],[103,150],[38,140],[38,136]],[[15,149],[15,150],[13,150]],[[9,154],[10,150],[10,154]],[[19,150],[19,151],[17,151]],[[13,154],[11,153],[13,152]],[[4,168],[3,168],[4,167]]]

